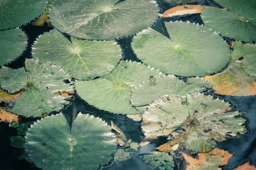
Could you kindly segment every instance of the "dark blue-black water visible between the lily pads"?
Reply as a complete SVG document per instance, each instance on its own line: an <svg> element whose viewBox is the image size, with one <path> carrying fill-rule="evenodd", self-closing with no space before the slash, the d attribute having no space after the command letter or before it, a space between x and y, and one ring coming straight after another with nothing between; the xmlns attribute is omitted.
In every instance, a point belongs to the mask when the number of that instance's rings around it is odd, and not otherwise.
<svg viewBox="0 0 256 170"><path fill-rule="evenodd" d="M201 3L194 3L194 4L202 4L202 5L210 5L210 6L218 6L211 1L203 1ZM162 6L162 12L166 11L167 9L173 7L174 5L165 5ZM161 32L162 34L168 37L166 34L166 28L163 26L163 21L170 22L182 20L190 22L195 22L199 24L203 24L201 20L200 14L189 14L182 17L172 17L171 19L161 19L158 20L157 23L152 26L155 30ZM23 26L23 30L29 37L28 46L23 54L20 56L19 59L9 64L9 67L12 68L20 68L24 66L24 62L26 58L31 58L31 45L35 41L38 35L43 34L46 31L49 31L52 28L48 28L47 25L40 27L40 26L32 26L28 24L27 26ZM225 38L228 43L231 42L232 39ZM132 37L123 38L117 40L118 44L122 48L122 59L131 59L132 61L140 60L136 57L134 52L131 49L131 41ZM229 164L227 166L222 167L224 170L232 170L238 165L241 165L247 161L250 163L256 164L256 96L241 96L241 97L234 97L234 96L223 96L223 95L216 95L212 92L207 94L220 96L222 99L225 99L226 102L230 102L233 106L235 106L234 110L241 110L246 112L247 114L244 116L248 119L249 123L249 132L244 134L238 138L231 137L226 141L217 142L217 147L219 149L224 149L233 153L233 157L230 159ZM1 103L0 105L4 105ZM150 153L151 151L155 150L155 147L160 146L167 142L166 137L161 137L160 139L144 139L143 134L141 133L140 129L140 122L134 122L133 120L127 118L123 115L113 115L111 113L100 111L93 106L88 105L85 101L79 98L79 96L74 96L72 102L69 106L66 106L62 111L67 119L70 119L72 116L73 106L76 107L77 112L81 112L84 114L92 114L97 117L101 117L106 122L110 123L111 120L113 123L118 126L126 135L127 139L131 139L133 142L140 143L141 141L151 141L150 144L140 147L139 151L132 153L131 158L126 159L124 161L111 161L108 165L104 167L100 167L104 170L156 170L157 168L151 168L139 158L138 155ZM33 121L35 118L25 118L22 117L21 120L23 122ZM22 155L23 149L12 147L10 144L10 137L16 136L17 131L13 127L9 127L9 124L1 122L0 123L0 170L15 170L15 169L25 169L25 170L40 170L39 168L35 167L35 165L31 164L26 160L18 159L18 156ZM176 167L176 169L178 169Z"/></svg>

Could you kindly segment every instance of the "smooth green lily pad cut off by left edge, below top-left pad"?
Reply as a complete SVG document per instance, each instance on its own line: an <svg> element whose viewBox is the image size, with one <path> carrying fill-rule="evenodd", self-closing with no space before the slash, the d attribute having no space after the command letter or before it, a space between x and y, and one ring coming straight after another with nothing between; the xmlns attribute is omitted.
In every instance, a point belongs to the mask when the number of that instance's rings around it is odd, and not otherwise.
<svg viewBox="0 0 256 170"><path fill-rule="evenodd" d="M0 18L3 18L2 15ZM1 25L0 21L0 27ZM21 29L9 29L0 31L0 37L0 65L4 65L22 54L27 45L27 36Z"/></svg>

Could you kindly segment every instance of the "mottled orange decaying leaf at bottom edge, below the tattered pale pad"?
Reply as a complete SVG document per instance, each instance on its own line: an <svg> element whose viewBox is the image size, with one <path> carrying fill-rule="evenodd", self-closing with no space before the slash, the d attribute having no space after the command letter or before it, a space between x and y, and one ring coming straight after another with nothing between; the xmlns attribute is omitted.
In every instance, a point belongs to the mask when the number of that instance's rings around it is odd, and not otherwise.
<svg viewBox="0 0 256 170"><path fill-rule="evenodd" d="M208 153L198 153L198 159L188 156L186 153L181 153L185 161L188 163L186 170L196 170L198 168L210 168L223 166L228 163L233 154L224 150L214 149Z"/></svg>

